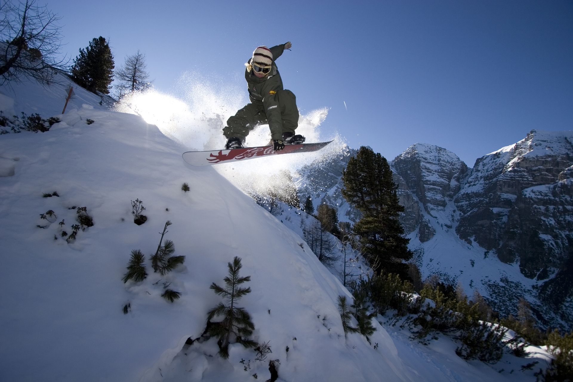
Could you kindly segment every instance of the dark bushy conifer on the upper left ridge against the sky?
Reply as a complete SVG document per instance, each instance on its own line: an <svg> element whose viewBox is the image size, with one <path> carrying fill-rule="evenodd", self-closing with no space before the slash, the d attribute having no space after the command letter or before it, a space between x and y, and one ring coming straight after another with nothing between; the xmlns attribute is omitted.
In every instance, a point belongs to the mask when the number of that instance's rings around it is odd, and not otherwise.
<svg viewBox="0 0 573 382"><path fill-rule="evenodd" d="M113 81L113 55L105 38L93 38L89 46L80 49L72 66L72 78L90 92L109 93Z"/></svg>

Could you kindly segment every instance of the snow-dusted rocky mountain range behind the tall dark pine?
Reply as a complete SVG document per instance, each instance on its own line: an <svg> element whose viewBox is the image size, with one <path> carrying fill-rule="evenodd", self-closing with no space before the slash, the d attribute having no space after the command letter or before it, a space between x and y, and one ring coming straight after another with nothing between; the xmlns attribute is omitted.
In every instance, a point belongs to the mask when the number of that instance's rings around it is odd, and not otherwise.
<svg viewBox="0 0 573 382"><path fill-rule="evenodd" d="M423 276L477 289L502 314L515 315L525 297L541 325L570 330L572 141L571 131L532 131L471 169L435 145L417 143L397 156L391 167L405 206L401 220ZM340 168L350 156L305 173L321 185L306 192L355 222L358 211L340 193Z"/></svg>

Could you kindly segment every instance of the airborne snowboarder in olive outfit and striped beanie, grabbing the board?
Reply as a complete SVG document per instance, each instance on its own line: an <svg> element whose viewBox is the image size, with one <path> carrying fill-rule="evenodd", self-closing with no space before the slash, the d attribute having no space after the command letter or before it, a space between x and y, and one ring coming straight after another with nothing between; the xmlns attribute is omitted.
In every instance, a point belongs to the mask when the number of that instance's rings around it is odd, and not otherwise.
<svg viewBox="0 0 573 382"><path fill-rule="evenodd" d="M299 125L295 94L282 88L281 75L274 63L291 46L291 42L272 48L259 46L246 62L245 79L251 103L227 120L227 126L223 128L226 149L242 148L249 132L257 125L267 123L274 151L284 149L285 144L304 142L302 135L295 135Z"/></svg>

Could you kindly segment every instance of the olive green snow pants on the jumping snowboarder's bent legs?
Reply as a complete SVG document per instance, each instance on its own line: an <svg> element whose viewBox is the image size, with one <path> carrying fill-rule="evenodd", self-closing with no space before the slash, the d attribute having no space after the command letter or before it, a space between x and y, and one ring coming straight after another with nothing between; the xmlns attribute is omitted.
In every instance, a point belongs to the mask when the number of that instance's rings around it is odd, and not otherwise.
<svg viewBox="0 0 573 382"><path fill-rule="evenodd" d="M278 133L281 136L282 133L286 132L294 133L299 125L299 109L296 107L295 94L291 90L278 90L275 97L278 101L281 120L270 118L271 123L269 123L262 103L247 104L236 115L227 120L227 127L223 128L223 135L227 138L237 137L245 141L245 137L257 125L268 123L271 132L273 129L280 129ZM272 123L273 121L275 123Z"/></svg>

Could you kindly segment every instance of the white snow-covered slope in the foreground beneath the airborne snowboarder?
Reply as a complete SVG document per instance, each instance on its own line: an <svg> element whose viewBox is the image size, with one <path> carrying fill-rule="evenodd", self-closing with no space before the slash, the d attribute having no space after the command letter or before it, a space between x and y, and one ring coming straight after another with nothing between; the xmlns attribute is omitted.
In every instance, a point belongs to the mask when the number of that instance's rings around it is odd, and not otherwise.
<svg viewBox="0 0 573 382"><path fill-rule="evenodd" d="M1 105L28 114L35 105L33 112L55 116L65 87L0 88ZM214 339L184 346L201 335L207 310L221 301L209 285L223 282L234 256L242 258L241 275L251 277L252 293L241 305L256 325L252 339L270 341L280 380L521 381L533 376L520 364L548 359L541 349L529 359L504 359L516 369L509 373L507 364L461 360L447 339L423 346L376 322L372 344L359 334L345 337L336 298L350 294L301 239L299 215L277 219L229 182L264 172L265 160L188 166L180 153L190 146L181 139L100 107L99 97L81 89L76 94L49 132L0 136L2 166L13 169L0 177L0 380L248 381L255 373L268 379L268 360L255 361L240 345L231 346L228 360L219 359ZM273 164L284 170L299 160ZM180 189L183 182L190 192ZM59 196L42 198L53 191ZM142 226L132 222L135 199L146 207ZM87 207L94 225L67 243L61 231L70 231L74 206ZM40 219L49 210L56 218ZM154 253L167 220L166 239L185 264L160 276L147 262L146 280L121 282L130 251ZM165 282L182 292L180 300L160 297Z"/></svg>

